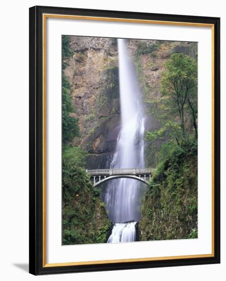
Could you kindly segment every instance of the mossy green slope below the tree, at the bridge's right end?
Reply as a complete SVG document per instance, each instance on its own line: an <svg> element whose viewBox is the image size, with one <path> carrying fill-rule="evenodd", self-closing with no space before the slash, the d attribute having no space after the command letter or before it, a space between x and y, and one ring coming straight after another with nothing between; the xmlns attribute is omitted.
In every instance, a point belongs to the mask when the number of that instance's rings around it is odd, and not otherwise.
<svg viewBox="0 0 226 281"><path fill-rule="evenodd" d="M142 241L197 238L197 143L168 149L142 205Z"/></svg>

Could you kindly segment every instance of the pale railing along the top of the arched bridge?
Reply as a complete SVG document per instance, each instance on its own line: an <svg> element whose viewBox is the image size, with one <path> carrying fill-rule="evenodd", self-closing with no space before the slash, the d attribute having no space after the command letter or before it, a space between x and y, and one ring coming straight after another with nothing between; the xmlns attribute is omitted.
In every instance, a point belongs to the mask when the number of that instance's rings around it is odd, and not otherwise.
<svg viewBox="0 0 226 281"><path fill-rule="evenodd" d="M91 176L113 176L113 175L149 175L155 171L154 168L124 168L124 169L96 169L86 170Z"/></svg>

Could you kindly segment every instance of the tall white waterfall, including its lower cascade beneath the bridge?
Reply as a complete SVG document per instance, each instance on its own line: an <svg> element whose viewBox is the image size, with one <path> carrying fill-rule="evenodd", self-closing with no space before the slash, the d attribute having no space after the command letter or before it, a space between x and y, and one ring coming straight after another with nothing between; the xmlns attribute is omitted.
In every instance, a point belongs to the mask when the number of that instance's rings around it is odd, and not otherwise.
<svg viewBox="0 0 226 281"><path fill-rule="evenodd" d="M110 168L143 168L145 115L137 75L125 39L118 39L118 53L121 131ZM109 219L115 222L109 243L135 240L135 223L141 216L139 191L142 185L140 181L128 178L111 180L107 184L105 203Z"/></svg>

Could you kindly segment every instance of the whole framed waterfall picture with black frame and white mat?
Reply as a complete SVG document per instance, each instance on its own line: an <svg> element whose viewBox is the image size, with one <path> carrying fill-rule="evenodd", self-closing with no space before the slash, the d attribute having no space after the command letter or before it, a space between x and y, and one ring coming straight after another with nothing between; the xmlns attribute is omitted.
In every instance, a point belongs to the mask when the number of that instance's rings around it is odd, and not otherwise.
<svg viewBox="0 0 226 281"><path fill-rule="evenodd" d="M30 273L220 262L219 34L30 8Z"/></svg>

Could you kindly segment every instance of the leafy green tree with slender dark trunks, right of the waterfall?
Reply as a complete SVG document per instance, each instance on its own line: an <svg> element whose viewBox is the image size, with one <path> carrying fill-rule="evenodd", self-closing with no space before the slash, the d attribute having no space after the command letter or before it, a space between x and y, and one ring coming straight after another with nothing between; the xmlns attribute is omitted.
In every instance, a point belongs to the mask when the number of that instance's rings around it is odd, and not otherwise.
<svg viewBox="0 0 226 281"><path fill-rule="evenodd" d="M190 111L197 137L197 63L182 53L172 54L166 62L161 93L167 98L168 109L173 116L179 115L183 138L185 132L185 112Z"/></svg>

